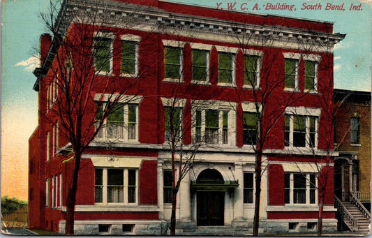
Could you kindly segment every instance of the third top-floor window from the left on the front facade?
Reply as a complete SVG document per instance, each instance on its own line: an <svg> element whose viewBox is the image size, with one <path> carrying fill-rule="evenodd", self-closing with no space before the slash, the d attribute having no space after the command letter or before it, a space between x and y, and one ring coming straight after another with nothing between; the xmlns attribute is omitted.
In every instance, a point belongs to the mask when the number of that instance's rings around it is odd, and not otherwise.
<svg viewBox="0 0 372 238"><path fill-rule="evenodd" d="M181 79L181 48L164 47L164 77L171 80Z"/></svg>

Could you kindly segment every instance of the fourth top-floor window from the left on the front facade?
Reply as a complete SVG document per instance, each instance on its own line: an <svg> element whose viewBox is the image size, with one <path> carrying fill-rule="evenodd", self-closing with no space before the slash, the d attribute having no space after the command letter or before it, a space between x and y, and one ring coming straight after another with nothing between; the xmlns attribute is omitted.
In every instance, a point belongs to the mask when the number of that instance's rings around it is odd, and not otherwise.
<svg viewBox="0 0 372 238"><path fill-rule="evenodd" d="M207 82L209 52L207 50L192 50L193 80Z"/></svg>

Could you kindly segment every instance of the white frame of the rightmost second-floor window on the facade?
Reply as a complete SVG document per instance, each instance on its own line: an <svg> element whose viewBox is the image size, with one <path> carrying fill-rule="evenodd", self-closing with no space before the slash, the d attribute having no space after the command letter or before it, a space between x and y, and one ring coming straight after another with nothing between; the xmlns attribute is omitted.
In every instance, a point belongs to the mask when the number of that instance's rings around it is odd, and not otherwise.
<svg viewBox="0 0 372 238"><path fill-rule="evenodd" d="M309 149L316 150L318 149L318 137L319 137L319 121L320 121L320 108L310 108L310 107L287 107L285 109L284 117L290 116L290 138L289 138L289 146L285 146L285 148L289 149ZM294 133L294 122L293 116L304 116L305 119L305 127L306 127L306 137L305 137L305 147L295 147L293 145L293 133ZM315 138L314 138L314 146L310 147L308 142L310 141L310 121L308 120L309 117L316 117L315 118ZM285 128L285 126L283 126Z"/></svg>

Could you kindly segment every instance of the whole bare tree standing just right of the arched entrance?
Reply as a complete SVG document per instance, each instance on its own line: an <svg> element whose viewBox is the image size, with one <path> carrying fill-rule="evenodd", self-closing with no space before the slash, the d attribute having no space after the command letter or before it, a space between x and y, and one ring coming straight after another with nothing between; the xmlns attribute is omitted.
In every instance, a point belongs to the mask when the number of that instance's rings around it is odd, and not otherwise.
<svg viewBox="0 0 372 238"><path fill-rule="evenodd" d="M245 24L245 31L237 27L235 38L240 48L237 58L242 62L237 64L237 78L243 79L242 82L237 82L237 96L239 101L246 102L245 105L241 104L237 114L244 128L243 144L251 145L255 153L253 236L258 236L261 180L266 171L266 168L262 167L265 149L275 143L275 135L278 134L281 123L287 122L283 121L283 115L289 107L308 101L318 91L323 94L320 105L332 102L329 89L333 88L333 59L321 59L318 50L332 52L336 41L330 43L321 40L320 32L305 30L291 39L297 47L285 52L276 47L284 35L281 27L258 29L251 24ZM302 38L301 34L306 34L308 38ZM292 34L290 35L292 37ZM333 57L333 54L322 55ZM283 57L284 62L278 60ZM332 65L328 65L329 62ZM304 86L299 84L300 68L305 71ZM319 77L320 71L326 73ZM286 135L285 133L285 146L290 146L292 142L288 141L289 137Z"/></svg>

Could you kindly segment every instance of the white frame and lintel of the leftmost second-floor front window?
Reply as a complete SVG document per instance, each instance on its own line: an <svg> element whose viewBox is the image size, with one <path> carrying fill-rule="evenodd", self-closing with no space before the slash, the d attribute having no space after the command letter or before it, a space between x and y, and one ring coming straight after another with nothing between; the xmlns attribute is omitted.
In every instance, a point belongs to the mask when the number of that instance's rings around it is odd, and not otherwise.
<svg viewBox="0 0 372 238"><path fill-rule="evenodd" d="M140 133L140 103L143 99L143 96L134 96L134 95L119 95L119 94L96 94L94 95L94 101L101 101L102 107L105 108L106 102L110 100L115 100L117 97L119 101L118 104L122 103L124 106L124 126L123 126L123 138L107 138L107 132L105 125L107 124L107 117L105 121L103 121L103 126L101 131L98 132L95 140L96 141L119 141L119 142L138 142L139 141L139 133ZM135 124L135 139L128 139L128 105L135 105L136 106L136 124ZM102 137L98 137L98 135L102 135Z"/></svg>

